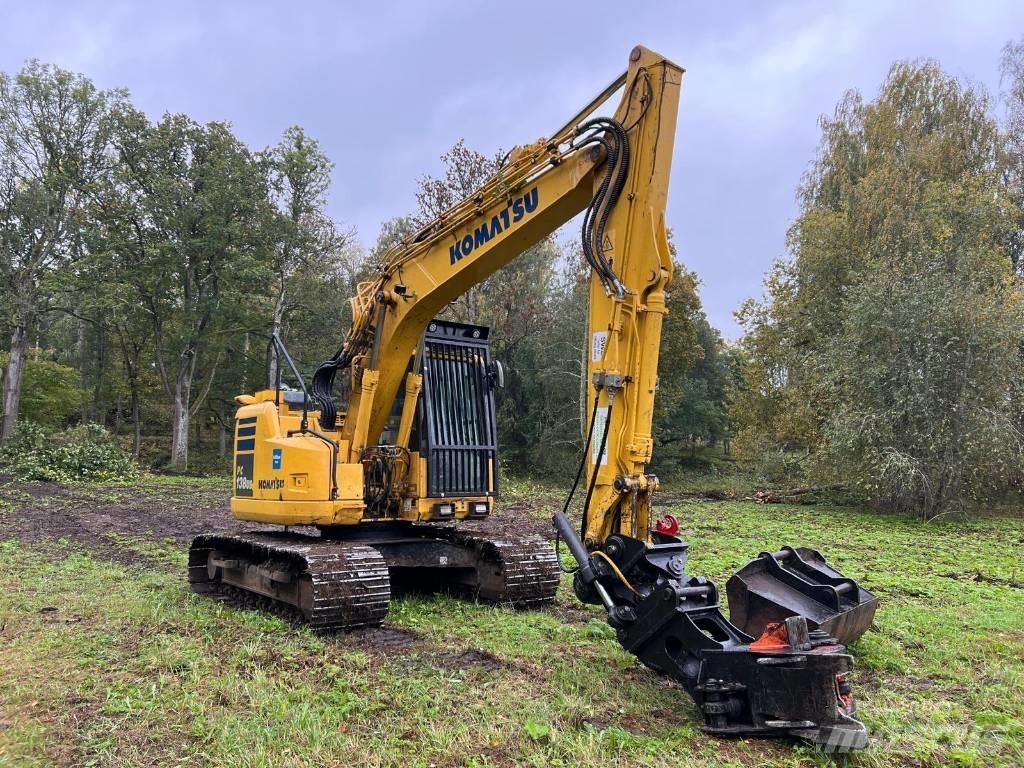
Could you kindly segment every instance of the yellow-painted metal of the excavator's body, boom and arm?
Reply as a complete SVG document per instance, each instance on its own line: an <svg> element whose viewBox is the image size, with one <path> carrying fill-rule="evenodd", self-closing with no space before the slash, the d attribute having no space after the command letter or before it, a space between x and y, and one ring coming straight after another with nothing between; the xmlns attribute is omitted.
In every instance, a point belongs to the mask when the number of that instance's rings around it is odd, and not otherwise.
<svg viewBox="0 0 1024 768"><path fill-rule="evenodd" d="M631 536L646 537L650 525L650 495L656 480L645 474L645 467L653 447L651 420L665 291L673 271L665 210L682 74L663 56L637 47L622 79L623 97L614 113L629 131L631 165L605 226L604 250L627 291L622 297L608 295L596 275L592 278L589 344L603 351L588 355L588 410L597 393L594 374L622 377L623 383L613 392L600 392L600 406L607 408L611 401L612 410L607 460L596 466L589 460L587 467L588 474L597 472L586 537L590 546L614 532L615 520L621 521L617 530ZM574 126L598 105L592 102L551 139L516 147L494 178L416 238L392 249L379 276L359 286L346 338L346 348L356 360L348 413L336 432L321 430L315 414L310 418L310 428L338 446L334 498L332 449L311 435L289 436L299 429L300 415L284 403L279 413L272 391L240 398L239 419L257 417L253 454L257 487L252 498L237 495L232 500L237 517L285 524L359 522L360 457L364 449L379 441L403 380L406 401L396 443L412 447L409 439L422 378L408 374L409 362L429 322L583 211L594 197L604 153L575 150L571 140ZM515 207L515 201L524 200L535 202L532 210ZM470 246L464 248L465 244ZM596 434L595 440L600 436ZM280 470L271 468L274 449L281 451ZM239 456L237 452L237 464ZM493 483L493 467L490 475ZM394 484L393 493L400 497L395 499L394 517L430 519L439 503L454 504L457 517L470 514L473 504L490 507L488 498L427 499L426 476L426 461L418 453L410 454L408 473ZM622 490L613 485L616 477ZM261 481L269 485L261 487Z"/></svg>

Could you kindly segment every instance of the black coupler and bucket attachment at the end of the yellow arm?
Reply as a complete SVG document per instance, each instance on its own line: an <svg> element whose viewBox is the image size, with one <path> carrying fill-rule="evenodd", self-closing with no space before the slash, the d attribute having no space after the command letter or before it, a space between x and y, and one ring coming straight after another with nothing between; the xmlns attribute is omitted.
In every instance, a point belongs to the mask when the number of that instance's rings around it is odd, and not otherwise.
<svg viewBox="0 0 1024 768"><path fill-rule="evenodd" d="M828 629L841 629L847 641L859 637L870 625L877 599L828 568L816 552L783 550L792 555L781 558L785 566L775 559L785 572L781 577L760 558L741 569L737 577L746 571L746 581L730 590L730 596L735 592L738 599L750 598L738 609L730 601L730 614L743 616L740 627L722 614L714 583L686 573L685 542L656 531L653 544L615 535L589 552L564 514L556 513L553 521L579 563L573 581L578 597L603 604L623 647L685 686L707 731L791 736L837 752L867 745L850 688L853 657ZM760 564L752 568L755 563ZM803 570L801 563L807 565ZM757 580L751 579L755 570ZM771 578L801 599L782 589L769 590ZM840 588L831 617L843 621L829 623L820 606L831 603L824 600L812 616L802 613L809 594L824 596L811 589L822 585L834 592ZM849 605L854 599L859 604ZM762 620L768 621L756 634L749 632Z"/></svg>

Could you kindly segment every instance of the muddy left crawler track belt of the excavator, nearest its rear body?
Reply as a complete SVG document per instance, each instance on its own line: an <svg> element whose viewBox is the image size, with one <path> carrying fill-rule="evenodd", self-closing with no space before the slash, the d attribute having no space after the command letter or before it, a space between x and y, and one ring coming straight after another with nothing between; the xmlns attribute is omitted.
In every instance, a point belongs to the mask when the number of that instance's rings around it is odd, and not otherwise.
<svg viewBox="0 0 1024 768"><path fill-rule="evenodd" d="M312 604L292 606L280 600L211 581L210 550L231 553L253 563L287 561L311 584ZM301 612L321 631L379 627L387 616L391 585L384 558L373 547L324 542L282 534L207 535L197 537L188 552L188 582L200 594L214 593L246 607L271 607L272 612Z"/></svg>

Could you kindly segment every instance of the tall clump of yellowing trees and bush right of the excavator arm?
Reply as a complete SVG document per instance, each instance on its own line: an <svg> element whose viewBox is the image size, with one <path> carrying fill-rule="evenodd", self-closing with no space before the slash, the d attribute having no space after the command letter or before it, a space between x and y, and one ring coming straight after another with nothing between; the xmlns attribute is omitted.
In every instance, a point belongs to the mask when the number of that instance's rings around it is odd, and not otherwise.
<svg viewBox="0 0 1024 768"><path fill-rule="evenodd" d="M987 96L899 62L874 101L848 93L821 127L792 258L740 314L741 436L807 451L891 508L985 498L1020 476L1024 348Z"/></svg>

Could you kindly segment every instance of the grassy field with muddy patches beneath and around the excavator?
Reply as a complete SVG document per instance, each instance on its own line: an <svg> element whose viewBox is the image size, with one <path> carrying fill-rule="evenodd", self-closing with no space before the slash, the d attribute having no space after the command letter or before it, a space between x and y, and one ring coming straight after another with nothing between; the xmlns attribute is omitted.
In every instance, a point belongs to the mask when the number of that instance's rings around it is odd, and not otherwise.
<svg viewBox="0 0 1024 768"><path fill-rule="evenodd" d="M871 746L837 758L705 735L567 583L542 612L410 596L328 636L196 597L185 548L234 527L225 487L0 480L0 765L1024 765L1019 513L666 499L694 573L804 544L883 598L853 647ZM512 483L488 524L546 535L557 500Z"/></svg>

